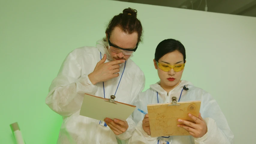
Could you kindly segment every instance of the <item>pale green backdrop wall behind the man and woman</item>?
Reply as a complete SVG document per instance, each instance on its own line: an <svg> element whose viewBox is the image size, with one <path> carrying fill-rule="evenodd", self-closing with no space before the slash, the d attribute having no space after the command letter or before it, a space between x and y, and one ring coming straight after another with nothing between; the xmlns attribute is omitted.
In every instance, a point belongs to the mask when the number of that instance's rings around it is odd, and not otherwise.
<svg viewBox="0 0 256 144"><path fill-rule="evenodd" d="M155 47L178 39L187 51L183 79L218 101L237 144L255 141L250 111L256 99L246 89L255 85L256 18L109 0L9 0L0 2L0 143L14 143L13 122L27 144L56 143L62 118L45 104L51 81L69 52L95 46L110 18L127 7L138 10L144 27L144 43L132 59L145 73L146 88L158 81Z"/></svg>

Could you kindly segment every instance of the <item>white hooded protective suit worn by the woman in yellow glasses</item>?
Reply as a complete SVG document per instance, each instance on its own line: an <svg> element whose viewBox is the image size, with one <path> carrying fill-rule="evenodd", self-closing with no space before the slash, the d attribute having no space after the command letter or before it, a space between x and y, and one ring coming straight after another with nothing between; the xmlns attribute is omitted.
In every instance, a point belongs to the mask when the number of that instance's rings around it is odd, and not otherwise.
<svg viewBox="0 0 256 144"><path fill-rule="evenodd" d="M183 90L183 86L189 88ZM158 98L157 98L158 92ZM182 94L181 94L182 93ZM181 98L180 98L181 95ZM201 138L194 138L192 136L170 136L164 137L151 137L142 128L142 120L144 114L136 110L133 113L133 120L137 124L134 134L129 140L131 144L161 144L168 142L170 144L233 144L234 135L229 128L227 120L224 114L221 112L217 102L212 96L201 88L194 87L191 82L182 80L177 87L167 92L159 85L159 82L150 85L150 88L140 93L134 105L137 108L147 112L147 104L157 103L170 103L171 98L177 97L177 101L180 98L182 101L195 101L201 100L200 113L202 118L207 124L207 133ZM159 101L159 102L158 102Z"/></svg>

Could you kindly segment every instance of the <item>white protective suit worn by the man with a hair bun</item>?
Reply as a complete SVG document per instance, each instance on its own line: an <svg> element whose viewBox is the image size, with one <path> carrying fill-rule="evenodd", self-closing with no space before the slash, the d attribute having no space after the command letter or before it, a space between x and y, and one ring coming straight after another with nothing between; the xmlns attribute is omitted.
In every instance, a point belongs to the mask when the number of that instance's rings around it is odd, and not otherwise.
<svg viewBox="0 0 256 144"><path fill-rule="evenodd" d="M105 62L111 61L106 46L107 42L100 40L96 47L84 46L73 50L65 58L57 77L52 81L46 104L63 117L57 143L114 144L129 139L135 130L136 125L131 116L126 120L129 125L127 131L116 136L108 126L99 125L98 120L79 115L84 93L104 98L103 82L93 85L88 74L93 72L104 54L107 55ZM119 77L104 82L105 96L110 98L116 92L116 101L132 104L144 86L144 73L134 61L128 59L126 65L120 64Z"/></svg>

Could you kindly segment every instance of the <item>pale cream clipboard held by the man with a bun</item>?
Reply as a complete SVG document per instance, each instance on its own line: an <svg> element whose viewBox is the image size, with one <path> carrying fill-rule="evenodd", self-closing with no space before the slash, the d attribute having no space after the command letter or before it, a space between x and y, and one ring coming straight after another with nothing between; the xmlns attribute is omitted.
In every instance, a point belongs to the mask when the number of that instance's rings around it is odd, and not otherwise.
<svg viewBox="0 0 256 144"><path fill-rule="evenodd" d="M125 121L135 110L136 106L115 101L115 96L101 98L85 94L80 110L80 116L104 121L105 118Z"/></svg>

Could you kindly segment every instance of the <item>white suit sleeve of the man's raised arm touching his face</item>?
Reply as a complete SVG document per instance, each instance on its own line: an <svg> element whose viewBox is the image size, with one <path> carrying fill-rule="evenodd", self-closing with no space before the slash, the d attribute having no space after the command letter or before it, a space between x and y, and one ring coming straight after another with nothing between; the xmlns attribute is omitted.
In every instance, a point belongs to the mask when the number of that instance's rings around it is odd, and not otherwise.
<svg viewBox="0 0 256 144"><path fill-rule="evenodd" d="M97 89L88 75L81 76L81 66L71 52L52 81L45 102L59 115L70 116L80 110L84 93L94 94Z"/></svg>

